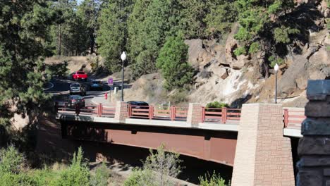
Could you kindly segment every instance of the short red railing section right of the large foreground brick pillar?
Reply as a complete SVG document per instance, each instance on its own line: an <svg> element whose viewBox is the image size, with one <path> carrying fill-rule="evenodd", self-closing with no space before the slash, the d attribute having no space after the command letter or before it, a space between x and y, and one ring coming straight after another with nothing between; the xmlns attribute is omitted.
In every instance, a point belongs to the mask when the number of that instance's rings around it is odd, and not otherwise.
<svg viewBox="0 0 330 186"><path fill-rule="evenodd" d="M284 128L300 128L305 118L305 109L283 109Z"/></svg>

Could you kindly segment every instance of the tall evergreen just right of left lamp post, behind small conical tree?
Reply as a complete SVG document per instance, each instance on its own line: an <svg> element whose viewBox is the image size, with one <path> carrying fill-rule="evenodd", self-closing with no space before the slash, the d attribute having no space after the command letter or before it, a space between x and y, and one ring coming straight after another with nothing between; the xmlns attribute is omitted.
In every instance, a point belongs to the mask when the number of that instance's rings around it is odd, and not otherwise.
<svg viewBox="0 0 330 186"><path fill-rule="evenodd" d="M147 5L146 7L142 7ZM159 49L168 35L176 31L178 17L176 3L173 1L138 0L133 8L133 20L130 23L138 24L138 30L133 36L130 33L130 54L133 58L133 77L147 73L154 73ZM145 9L145 13L138 13ZM130 29L132 30L132 29ZM136 39L134 41L134 39ZM135 46L134 43L138 45Z"/></svg>

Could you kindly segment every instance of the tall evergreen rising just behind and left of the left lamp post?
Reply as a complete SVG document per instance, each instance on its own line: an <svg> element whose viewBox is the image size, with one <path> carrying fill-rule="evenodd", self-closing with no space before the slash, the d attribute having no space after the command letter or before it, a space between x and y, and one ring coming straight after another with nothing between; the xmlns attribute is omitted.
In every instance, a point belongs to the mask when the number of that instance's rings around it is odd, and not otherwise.
<svg viewBox="0 0 330 186"><path fill-rule="evenodd" d="M121 52L126 51L127 19L132 0L110 0L103 4L99 17L97 44L99 54L105 58L106 68L115 72L121 67Z"/></svg>

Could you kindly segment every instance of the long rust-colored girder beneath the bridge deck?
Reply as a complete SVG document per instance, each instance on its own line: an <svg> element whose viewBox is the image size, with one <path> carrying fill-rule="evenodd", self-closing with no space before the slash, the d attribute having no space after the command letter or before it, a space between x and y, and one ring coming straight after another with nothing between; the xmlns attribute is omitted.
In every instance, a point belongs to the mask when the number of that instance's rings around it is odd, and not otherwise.
<svg viewBox="0 0 330 186"><path fill-rule="evenodd" d="M63 137L169 151L233 166L237 132L61 120ZM130 153L130 152L128 152ZM134 152L132 152L134 154Z"/></svg>

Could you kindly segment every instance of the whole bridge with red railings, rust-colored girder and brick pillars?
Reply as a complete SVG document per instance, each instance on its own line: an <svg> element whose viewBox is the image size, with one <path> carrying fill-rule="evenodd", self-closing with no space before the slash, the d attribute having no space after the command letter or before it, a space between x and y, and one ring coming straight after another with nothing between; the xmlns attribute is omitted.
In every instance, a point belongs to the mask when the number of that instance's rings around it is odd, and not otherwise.
<svg viewBox="0 0 330 186"><path fill-rule="evenodd" d="M245 104L242 109L189 104L188 108L159 109L118 101L113 106L87 107L79 116L74 112L59 108L63 137L152 149L165 144L169 151L233 166L236 179L236 173L249 165L246 161L254 166L267 162L277 168L279 178L294 185L293 156L304 109L279 104Z"/></svg>

